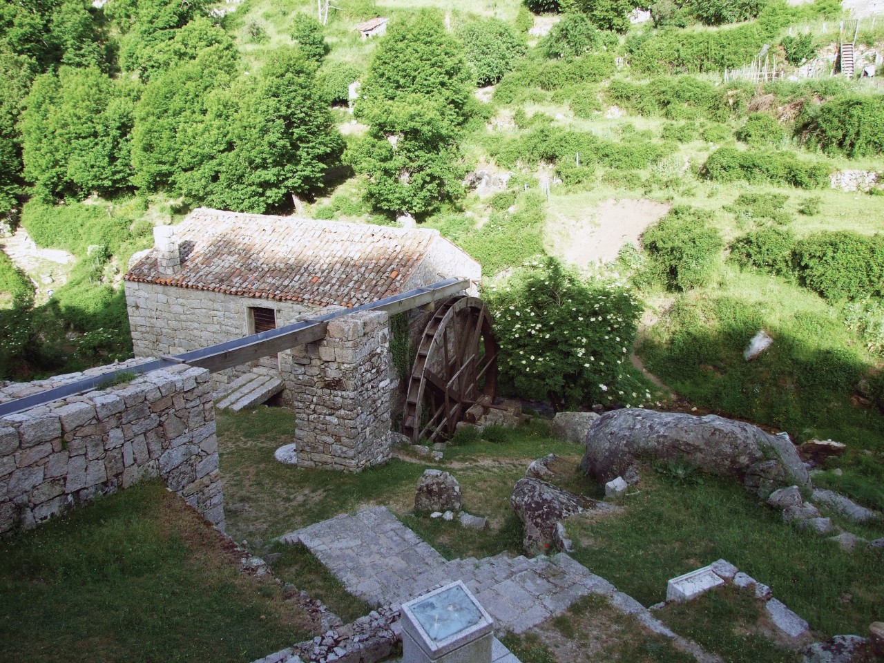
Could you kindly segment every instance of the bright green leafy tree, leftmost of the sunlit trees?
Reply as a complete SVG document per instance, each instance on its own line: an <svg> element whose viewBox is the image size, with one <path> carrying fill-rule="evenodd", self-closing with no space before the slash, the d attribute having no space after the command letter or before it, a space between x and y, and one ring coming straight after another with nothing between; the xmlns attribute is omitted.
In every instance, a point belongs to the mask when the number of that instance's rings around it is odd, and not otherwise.
<svg viewBox="0 0 884 663"><path fill-rule="evenodd" d="M136 94L95 67L35 80L21 131L24 174L36 193L82 198L128 187Z"/></svg>

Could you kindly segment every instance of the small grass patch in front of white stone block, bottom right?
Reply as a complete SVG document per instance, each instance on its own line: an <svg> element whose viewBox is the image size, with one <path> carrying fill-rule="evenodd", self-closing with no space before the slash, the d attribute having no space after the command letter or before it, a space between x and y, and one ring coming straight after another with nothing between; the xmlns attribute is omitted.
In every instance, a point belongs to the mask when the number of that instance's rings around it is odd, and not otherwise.
<svg viewBox="0 0 884 663"><path fill-rule="evenodd" d="M758 632L766 619L763 604L751 588L733 586L706 592L688 603L674 603L657 617L681 636L728 663L798 663L801 655Z"/></svg>

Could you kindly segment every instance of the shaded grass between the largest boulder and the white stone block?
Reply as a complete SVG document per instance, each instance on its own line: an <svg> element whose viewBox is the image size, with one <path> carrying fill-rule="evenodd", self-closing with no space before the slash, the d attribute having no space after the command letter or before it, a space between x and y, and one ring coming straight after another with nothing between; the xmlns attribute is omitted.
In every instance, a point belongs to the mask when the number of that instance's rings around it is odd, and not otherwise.
<svg viewBox="0 0 884 663"><path fill-rule="evenodd" d="M880 552L842 552L792 528L731 479L705 476L703 484L676 488L650 470L642 477L623 514L568 522L568 531L576 560L645 606L666 597L669 578L723 558L769 585L824 636L863 633L884 610ZM850 602L841 600L845 592Z"/></svg>

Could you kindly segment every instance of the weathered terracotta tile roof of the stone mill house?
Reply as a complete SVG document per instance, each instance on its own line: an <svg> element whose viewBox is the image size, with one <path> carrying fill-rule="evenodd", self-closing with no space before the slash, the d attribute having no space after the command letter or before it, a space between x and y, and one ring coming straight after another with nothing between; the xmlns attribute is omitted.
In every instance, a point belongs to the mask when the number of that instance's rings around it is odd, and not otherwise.
<svg viewBox="0 0 884 663"><path fill-rule="evenodd" d="M200 208L175 226L181 271L160 276L156 248L127 281L279 301L355 306L400 293L435 230Z"/></svg>

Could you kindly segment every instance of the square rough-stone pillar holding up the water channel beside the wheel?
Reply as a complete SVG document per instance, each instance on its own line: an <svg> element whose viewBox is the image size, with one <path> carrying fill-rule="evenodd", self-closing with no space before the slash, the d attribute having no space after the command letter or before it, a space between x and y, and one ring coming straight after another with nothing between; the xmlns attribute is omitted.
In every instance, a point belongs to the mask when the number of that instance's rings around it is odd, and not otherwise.
<svg viewBox="0 0 884 663"><path fill-rule="evenodd" d="M292 350L298 465L359 472L390 458L389 316L368 311L328 324Z"/></svg>

